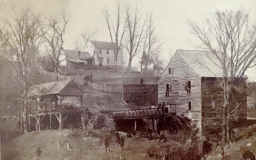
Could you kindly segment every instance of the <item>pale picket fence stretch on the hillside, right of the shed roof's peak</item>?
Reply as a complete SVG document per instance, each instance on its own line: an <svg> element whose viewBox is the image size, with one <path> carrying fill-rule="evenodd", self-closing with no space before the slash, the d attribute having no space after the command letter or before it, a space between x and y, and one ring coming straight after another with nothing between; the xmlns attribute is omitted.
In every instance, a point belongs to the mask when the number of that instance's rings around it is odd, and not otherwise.
<svg viewBox="0 0 256 160"><path fill-rule="evenodd" d="M111 86L111 85L104 86L103 84L91 83L90 81L88 81L88 86L102 92L121 93L122 91L121 86L120 87Z"/></svg>

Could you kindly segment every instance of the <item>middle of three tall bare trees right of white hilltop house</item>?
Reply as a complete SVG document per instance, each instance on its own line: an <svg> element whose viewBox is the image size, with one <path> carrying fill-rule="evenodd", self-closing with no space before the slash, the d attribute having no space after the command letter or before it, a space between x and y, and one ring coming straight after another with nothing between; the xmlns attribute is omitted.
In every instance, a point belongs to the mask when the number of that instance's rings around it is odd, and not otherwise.
<svg viewBox="0 0 256 160"><path fill-rule="evenodd" d="M140 51L140 44L143 41L143 32L145 28L145 22L147 20L147 15L145 16L145 19L140 25L140 20L142 17L142 14L140 14L140 9L136 5L136 7L131 11L130 6L126 6L125 12L126 12L126 21L127 21L127 30L125 34L125 44L124 47L129 53L129 62L127 70L131 69L132 65L132 58L136 56Z"/></svg>

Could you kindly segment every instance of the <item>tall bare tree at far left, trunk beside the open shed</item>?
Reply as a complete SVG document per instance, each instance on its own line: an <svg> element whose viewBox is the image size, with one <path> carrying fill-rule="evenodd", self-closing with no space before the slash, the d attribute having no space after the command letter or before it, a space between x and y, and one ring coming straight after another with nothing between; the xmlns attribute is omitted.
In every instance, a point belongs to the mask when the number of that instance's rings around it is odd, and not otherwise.
<svg viewBox="0 0 256 160"><path fill-rule="evenodd" d="M22 83L20 99L22 99L23 111L26 116L25 129L28 131L27 93L29 76L37 69L35 58L42 43L40 32L41 17L29 8L18 12L15 9L12 9L12 11L13 19L7 16L4 18L4 23L10 35L7 36L2 30L0 30L0 33L17 61L17 65L13 64L13 66L17 68L15 71L18 74L19 81Z"/></svg>

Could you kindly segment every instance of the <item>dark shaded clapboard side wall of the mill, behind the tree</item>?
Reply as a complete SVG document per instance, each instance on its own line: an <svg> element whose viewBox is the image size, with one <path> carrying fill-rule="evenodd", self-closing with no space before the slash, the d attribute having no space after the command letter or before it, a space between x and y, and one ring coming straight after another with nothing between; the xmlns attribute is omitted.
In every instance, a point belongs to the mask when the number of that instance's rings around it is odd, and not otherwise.
<svg viewBox="0 0 256 160"><path fill-rule="evenodd" d="M202 84L202 132L209 133L211 130L220 130L222 124L222 105L224 96L222 94L223 89L220 86L220 82L216 78L201 79ZM235 82L235 86L239 91L233 93L233 98L230 100L230 110L233 110L237 103L240 103L246 95L246 84L242 79L238 79ZM245 119L247 116L247 100L242 101L239 108L237 108L235 117L232 116L233 121L239 123L239 121Z"/></svg>

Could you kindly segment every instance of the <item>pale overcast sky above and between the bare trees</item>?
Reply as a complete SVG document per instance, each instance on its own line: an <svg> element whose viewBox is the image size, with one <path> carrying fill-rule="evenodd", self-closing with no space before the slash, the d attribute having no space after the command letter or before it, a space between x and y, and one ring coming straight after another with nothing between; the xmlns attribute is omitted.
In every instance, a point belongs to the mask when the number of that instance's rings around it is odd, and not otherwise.
<svg viewBox="0 0 256 160"><path fill-rule="evenodd" d="M102 10L107 6L115 10L116 0L0 0L0 14L9 14L11 6L28 5L44 15L61 16L63 12L70 17L68 34L65 38L65 49L74 49L74 42L79 38L84 26L98 30L95 39L110 41L108 28L102 16ZM250 21L256 22L256 0L123 0L121 3L138 4L143 14L153 12L153 19L159 32L159 38L164 42L162 55L169 61L177 49L199 50L196 45L200 41L190 33L188 21L200 25L216 10L243 9L250 13ZM196 44L196 45L195 45ZM138 65L134 58L132 66ZM256 82L256 71L251 69L249 77ZM249 78L249 79L250 79Z"/></svg>

